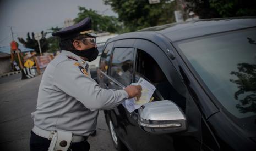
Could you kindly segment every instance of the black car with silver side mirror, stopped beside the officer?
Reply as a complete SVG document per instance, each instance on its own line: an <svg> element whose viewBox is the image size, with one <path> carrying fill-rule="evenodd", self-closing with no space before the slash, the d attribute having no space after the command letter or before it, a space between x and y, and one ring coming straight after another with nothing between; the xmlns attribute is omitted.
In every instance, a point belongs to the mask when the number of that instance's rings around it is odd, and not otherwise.
<svg viewBox="0 0 256 151"><path fill-rule="evenodd" d="M104 111L118 150L256 150L256 18L167 24L107 41L98 82L154 100Z"/></svg>

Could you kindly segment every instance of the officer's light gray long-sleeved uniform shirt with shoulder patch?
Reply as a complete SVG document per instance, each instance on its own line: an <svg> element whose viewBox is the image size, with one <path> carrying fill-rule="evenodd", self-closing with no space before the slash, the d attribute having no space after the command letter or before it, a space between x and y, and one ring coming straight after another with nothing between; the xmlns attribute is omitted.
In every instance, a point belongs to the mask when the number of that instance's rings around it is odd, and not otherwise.
<svg viewBox="0 0 256 151"><path fill-rule="evenodd" d="M85 68L84 60L64 50L48 64L39 86L36 111L31 113L37 127L89 135L96 129L99 109L111 109L128 98L124 90L100 88Z"/></svg>

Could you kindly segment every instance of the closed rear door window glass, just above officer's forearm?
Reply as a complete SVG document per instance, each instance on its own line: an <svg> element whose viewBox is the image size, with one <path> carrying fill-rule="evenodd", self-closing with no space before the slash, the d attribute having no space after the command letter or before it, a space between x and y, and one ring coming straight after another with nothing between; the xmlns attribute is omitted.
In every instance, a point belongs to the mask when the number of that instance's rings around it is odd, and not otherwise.
<svg viewBox="0 0 256 151"><path fill-rule="evenodd" d="M134 48L115 48L113 51L110 75L124 86L132 83Z"/></svg>

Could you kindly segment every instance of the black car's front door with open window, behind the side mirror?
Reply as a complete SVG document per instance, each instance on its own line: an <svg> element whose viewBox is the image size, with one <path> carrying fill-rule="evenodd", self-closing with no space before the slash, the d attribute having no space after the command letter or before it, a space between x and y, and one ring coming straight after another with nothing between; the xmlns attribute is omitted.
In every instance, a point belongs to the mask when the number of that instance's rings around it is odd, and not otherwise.
<svg viewBox="0 0 256 151"><path fill-rule="evenodd" d="M137 111L127 113L130 124L126 125L126 131L130 148L132 150L200 150L201 113L171 61L156 44L148 40L137 39L134 47L137 48L134 82L140 77L145 78L156 87L153 94L154 101L171 100L186 115L193 112L194 117L188 119L190 126L186 132L152 135L140 129L137 123Z"/></svg>

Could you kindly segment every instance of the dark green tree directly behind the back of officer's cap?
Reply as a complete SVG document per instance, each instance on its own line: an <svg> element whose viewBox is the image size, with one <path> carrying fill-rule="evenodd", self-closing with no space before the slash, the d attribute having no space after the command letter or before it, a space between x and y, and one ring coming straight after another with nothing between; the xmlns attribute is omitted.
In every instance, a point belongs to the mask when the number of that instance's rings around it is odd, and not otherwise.
<svg viewBox="0 0 256 151"><path fill-rule="evenodd" d="M61 30L61 28L52 27L49 30L51 32L48 32L48 33L53 33L53 32ZM47 41L49 43L49 49L48 49L49 53L55 53L56 51L60 50L59 49L59 37L50 36L50 37L47 38Z"/></svg>

